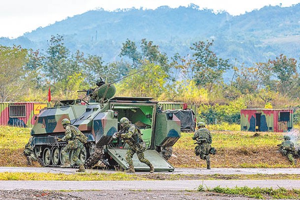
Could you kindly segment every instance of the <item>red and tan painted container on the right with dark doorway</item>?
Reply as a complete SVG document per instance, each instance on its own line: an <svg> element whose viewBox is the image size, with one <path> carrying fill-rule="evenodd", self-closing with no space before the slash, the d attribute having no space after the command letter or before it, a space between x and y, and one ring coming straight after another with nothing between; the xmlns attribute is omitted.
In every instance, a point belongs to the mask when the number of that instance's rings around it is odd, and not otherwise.
<svg viewBox="0 0 300 200"><path fill-rule="evenodd" d="M293 129L293 109L242 109L242 131L288 132Z"/></svg>

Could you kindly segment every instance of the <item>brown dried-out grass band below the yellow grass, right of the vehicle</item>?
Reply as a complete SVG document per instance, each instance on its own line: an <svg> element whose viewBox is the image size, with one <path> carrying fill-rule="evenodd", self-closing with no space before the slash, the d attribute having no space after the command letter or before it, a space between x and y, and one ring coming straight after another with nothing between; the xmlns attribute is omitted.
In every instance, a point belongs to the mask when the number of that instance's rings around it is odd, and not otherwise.
<svg viewBox="0 0 300 200"><path fill-rule="evenodd" d="M174 147L173 155L168 161L174 167L206 167L206 162L199 156L195 156L194 149ZM267 146L252 149L247 147L220 148L217 149L216 155L211 155L210 162L212 167L295 167L278 152L277 147Z"/></svg>

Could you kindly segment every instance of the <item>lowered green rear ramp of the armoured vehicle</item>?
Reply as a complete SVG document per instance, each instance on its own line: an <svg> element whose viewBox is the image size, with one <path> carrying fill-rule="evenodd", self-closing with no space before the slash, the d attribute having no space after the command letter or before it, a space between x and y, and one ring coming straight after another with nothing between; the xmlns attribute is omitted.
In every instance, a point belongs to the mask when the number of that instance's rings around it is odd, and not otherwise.
<svg viewBox="0 0 300 200"><path fill-rule="evenodd" d="M108 154L124 169L129 169L126 162L127 149L108 149ZM144 152L145 158L152 163L155 171L173 171L174 167L171 166L156 150L147 150ZM133 155L133 166L136 171L149 171L149 167L139 162L136 154Z"/></svg>

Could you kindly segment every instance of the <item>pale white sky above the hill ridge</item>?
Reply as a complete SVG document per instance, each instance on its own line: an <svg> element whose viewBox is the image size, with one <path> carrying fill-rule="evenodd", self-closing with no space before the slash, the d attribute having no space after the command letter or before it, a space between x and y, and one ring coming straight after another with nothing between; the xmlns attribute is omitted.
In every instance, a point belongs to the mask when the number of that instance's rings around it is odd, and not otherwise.
<svg viewBox="0 0 300 200"><path fill-rule="evenodd" d="M300 0L0 0L0 37L14 38L31 32L38 27L45 27L88 10L103 8L147 8L168 5L175 8L190 3L200 9L214 11L225 10L232 15L260 9L265 5L282 7L299 3Z"/></svg>

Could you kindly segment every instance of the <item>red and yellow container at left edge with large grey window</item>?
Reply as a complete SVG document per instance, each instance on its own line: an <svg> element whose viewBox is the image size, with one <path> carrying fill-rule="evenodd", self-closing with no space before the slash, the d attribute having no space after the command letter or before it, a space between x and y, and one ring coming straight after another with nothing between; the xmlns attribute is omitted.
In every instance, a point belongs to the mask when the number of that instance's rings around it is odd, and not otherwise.
<svg viewBox="0 0 300 200"><path fill-rule="evenodd" d="M32 128L39 110L50 107L44 102L0 102L0 125Z"/></svg>

